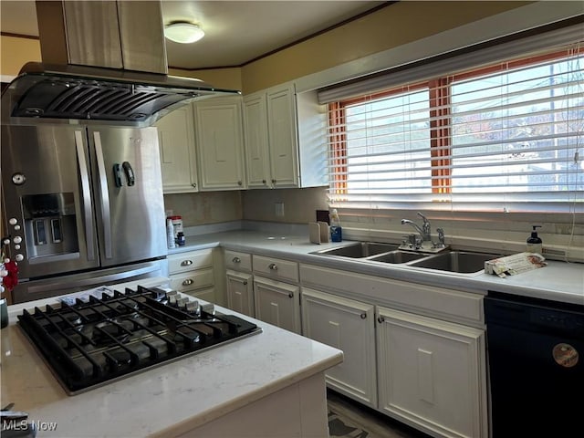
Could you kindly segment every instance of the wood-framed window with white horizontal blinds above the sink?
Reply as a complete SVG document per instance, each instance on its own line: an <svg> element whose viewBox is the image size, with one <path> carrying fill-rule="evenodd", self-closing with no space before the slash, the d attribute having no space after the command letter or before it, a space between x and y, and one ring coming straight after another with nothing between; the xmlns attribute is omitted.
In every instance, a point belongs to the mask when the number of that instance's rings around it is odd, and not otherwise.
<svg viewBox="0 0 584 438"><path fill-rule="evenodd" d="M554 212L584 203L579 45L328 108L333 206Z"/></svg>

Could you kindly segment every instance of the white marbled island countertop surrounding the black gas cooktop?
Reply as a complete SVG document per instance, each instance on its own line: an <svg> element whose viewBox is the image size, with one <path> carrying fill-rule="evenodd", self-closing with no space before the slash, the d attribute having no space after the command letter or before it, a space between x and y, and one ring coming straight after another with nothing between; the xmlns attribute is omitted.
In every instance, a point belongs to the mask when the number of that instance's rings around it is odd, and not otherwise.
<svg viewBox="0 0 584 438"><path fill-rule="evenodd" d="M57 422L56 431L39 437L174 436L342 361L339 349L241 316L262 333L68 396L16 326L16 315L35 305L41 301L9 307L10 325L1 330L1 401L28 412L30 422Z"/></svg>

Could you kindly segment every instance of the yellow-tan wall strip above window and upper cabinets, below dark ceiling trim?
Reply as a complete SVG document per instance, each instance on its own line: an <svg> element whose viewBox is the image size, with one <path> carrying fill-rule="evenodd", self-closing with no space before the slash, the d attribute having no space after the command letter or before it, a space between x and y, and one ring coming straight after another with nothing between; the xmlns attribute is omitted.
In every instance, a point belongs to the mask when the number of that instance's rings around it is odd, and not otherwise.
<svg viewBox="0 0 584 438"><path fill-rule="evenodd" d="M244 93L301 78L533 2L399 2L242 68ZM436 19L438 18L438 19Z"/></svg>

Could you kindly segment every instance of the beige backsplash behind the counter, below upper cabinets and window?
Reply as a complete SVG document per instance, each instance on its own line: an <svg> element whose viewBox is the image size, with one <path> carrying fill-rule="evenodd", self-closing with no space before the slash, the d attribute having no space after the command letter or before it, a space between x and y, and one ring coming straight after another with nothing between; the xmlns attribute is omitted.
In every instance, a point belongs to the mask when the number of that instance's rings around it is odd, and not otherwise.
<svg viewBox="0 0 584 438"><path fill-rule="evenodd" d="M328 210L324 187L167 194L164 203L167 210L183 216L185 227L231 223L245 228L254 222L306 225L315 220L316 210ZM279 207L283 216L276 214L276 203L283 204ZM400 242L403 235L412 232L401 225L401 218L419 220L412 212L350 213L341 213L343 235L348 240ZM574 218L569 214L423 213L432 223L433 234L436 227L442 227L446 243L459 248L522 252L531 225L537 224L543 225L538 233L547 258L584 261L584 224L579 219L572 224Z"/></svg>

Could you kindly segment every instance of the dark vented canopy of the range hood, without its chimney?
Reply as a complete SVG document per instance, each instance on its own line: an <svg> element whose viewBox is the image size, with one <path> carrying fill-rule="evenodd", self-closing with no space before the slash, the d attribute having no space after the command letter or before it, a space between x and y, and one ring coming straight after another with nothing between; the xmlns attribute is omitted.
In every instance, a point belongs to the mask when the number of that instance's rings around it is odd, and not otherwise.
<svg viewBox="0 0 584 438"><path fill-rule="evenodd" d="M35 118L149 126L177 104L237 93L193 78L30 62L2 96L3 123Z"/></svg>

